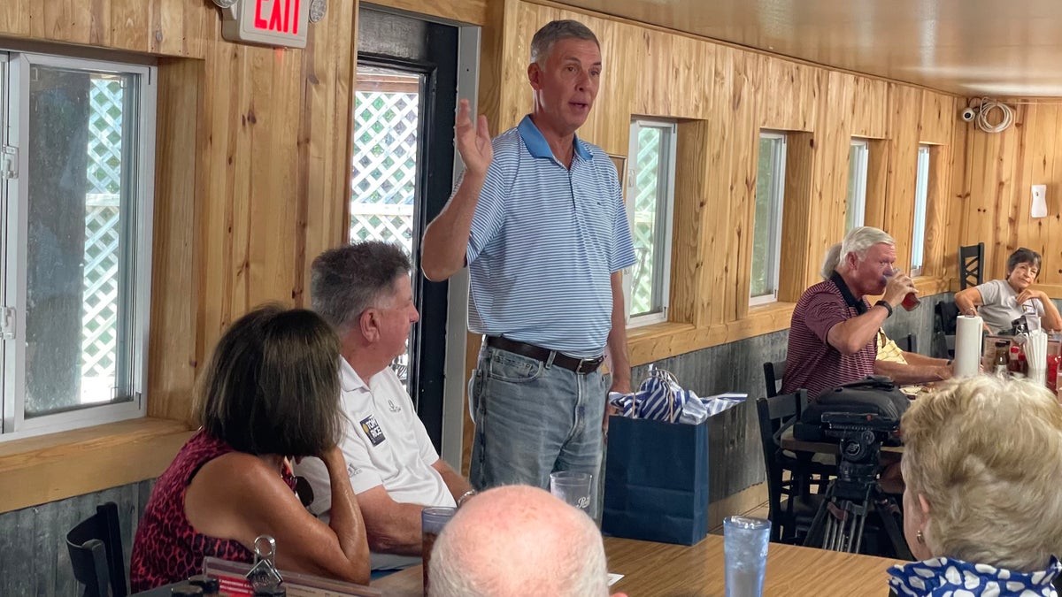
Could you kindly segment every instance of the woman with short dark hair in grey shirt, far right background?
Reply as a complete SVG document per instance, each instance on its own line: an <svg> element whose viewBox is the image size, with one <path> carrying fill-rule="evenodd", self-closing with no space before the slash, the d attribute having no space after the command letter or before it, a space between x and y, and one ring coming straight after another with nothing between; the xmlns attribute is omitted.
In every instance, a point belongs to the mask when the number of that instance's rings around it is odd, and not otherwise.
<svg viewBox="0 0 1062 597"><path fill-rule="evenodd" d="M1009 331L1013 321L1040 318L1044 329L1062 329L1062 315L1046 293L1029 288L1040 274L1040 254L1021 248L1007 258L1007 279L993 279L955 293L964 315L981 315L990 334ZM979 308L978 308L979 307Z"/></svg>

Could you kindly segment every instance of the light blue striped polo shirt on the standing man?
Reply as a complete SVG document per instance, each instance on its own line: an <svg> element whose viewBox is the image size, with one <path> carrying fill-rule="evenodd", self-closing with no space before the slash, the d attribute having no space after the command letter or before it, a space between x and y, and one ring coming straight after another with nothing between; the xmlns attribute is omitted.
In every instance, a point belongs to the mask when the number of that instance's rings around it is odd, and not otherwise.
<svg viewBox="0 0 1062 597"><path fill-rule="evenodd" d="M612 327L613 272L634 263L616 167L576 137L571 169L525 117L493 140L465 257L468 329L596 357Z"/></svg>

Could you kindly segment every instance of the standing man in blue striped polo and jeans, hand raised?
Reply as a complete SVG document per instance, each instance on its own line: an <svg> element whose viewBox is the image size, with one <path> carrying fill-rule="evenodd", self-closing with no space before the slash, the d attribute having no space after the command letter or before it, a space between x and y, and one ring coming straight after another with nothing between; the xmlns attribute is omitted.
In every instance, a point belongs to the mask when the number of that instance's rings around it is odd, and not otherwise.
<svg viewBox="0 0 1062 597"><path fill-rule="evenodd" d="M629 392L622 292L634 263L616 168L576 135L602 72L582 23L547 23L531 40L534 109L493 141L486 119L458 113L465 172L424 235L422 265L443 280L467 266L468 327L485 336L469 388L477 489L548 488L553 471L597 477L609 387Z"/></svg>

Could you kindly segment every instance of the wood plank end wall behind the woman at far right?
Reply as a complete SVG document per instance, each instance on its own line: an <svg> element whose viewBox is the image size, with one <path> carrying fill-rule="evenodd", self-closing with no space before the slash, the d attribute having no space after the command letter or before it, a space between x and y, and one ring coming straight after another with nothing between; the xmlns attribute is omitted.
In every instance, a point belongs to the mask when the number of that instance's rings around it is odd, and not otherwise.
<svg viewBox="0 0 1062 597"><path fill-rule="evenodd" d="M956 129L965 151L954 166L954 204L948 220L959 223L961 244L984 242L984 279L1006 275L1018 246L1043 255L1039 287L1062 297L1062 102L1006 100L1014 122L1001 133L972 123ZM1030 103L1031 102L1031 103ZM963 104L964 107L965 104ZM1047 185L1047 217L1032 218L1031 185ZM956 266L957 268L957 266Z"/></svg>

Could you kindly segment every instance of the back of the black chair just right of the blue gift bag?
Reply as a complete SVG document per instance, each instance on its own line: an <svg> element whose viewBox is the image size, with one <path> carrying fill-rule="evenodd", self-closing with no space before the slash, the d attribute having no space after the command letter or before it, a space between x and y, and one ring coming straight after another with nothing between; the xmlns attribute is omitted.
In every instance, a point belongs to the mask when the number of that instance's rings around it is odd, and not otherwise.
<svg viewBox="0 0 1062 597"><path fill-rule="evenodd" d="M764 363L764 369L770 363ZM764 471L767 473L768 516L771 519L771 541L777 542L783 534L783 526L792 525L791 521L783 521L782 496L791 493L783 483L782 448L775 437L782 426L790 420L800 419L801 412L807 406L807 390L798 390L792 394L769 396L756 400L756 414L759 419L759 441L764 449Z"/></svg>

